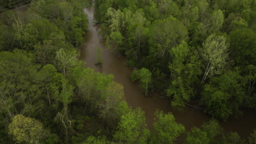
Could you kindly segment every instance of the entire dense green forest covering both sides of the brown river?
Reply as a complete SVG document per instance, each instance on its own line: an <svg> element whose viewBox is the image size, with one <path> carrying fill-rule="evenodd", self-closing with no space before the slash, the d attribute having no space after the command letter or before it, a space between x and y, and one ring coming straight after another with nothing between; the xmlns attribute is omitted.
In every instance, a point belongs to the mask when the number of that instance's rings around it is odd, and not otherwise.
<svg viewBox="0 0 256 144"><path fill-rule="evenodd" d="M256 130L243 139L218 123L256 109L254 0L34 0L16 9L27 2L0 0L0 143L256 143ZM185 129L156 110L149 130L114 75L79 60L92 5L145 97L158 91L177 111L194 101L213 119Z"/></svg>

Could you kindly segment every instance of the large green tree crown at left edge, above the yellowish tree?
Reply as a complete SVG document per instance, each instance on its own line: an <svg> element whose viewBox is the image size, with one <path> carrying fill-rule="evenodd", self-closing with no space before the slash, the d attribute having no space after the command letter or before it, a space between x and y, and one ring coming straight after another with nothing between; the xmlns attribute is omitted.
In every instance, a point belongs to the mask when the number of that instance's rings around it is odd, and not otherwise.
<svg viewBox="0 0 256 144"><path fill-rule="evenodd" d="M38 67L31 57L19 50L0 52L0 65L0 103L4 105L1 107L4 113L12 117L14 112L30 113L40 109L32 107L40 97L40 90L35 83Z"/></svg>

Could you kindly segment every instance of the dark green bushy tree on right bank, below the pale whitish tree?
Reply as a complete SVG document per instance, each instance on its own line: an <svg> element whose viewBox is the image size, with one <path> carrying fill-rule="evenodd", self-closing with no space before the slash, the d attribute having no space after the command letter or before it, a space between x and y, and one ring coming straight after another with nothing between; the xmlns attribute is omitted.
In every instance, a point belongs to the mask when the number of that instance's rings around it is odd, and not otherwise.
<svg viewBox="0 0 256 144"><path fill-rule="evenodd" d="M239 115L245 98L244 86L238 71L229 70L219 77L213 77L202 92L202 103L206 106L204 111L224 121L230 115Z"/></svg>

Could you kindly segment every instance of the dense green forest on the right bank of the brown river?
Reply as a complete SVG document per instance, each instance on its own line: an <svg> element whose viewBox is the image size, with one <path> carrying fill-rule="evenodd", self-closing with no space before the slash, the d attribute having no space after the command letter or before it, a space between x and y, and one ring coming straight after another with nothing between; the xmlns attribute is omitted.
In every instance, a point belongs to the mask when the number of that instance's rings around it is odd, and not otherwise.
<svg viewBox="0 0 256 144"><path fill-rule="evenodd" d="M95 8L106 43L127 57L146 95L159 91L178 110L201 101L224 121L256 109L255 1L97 0Z"/></svg>

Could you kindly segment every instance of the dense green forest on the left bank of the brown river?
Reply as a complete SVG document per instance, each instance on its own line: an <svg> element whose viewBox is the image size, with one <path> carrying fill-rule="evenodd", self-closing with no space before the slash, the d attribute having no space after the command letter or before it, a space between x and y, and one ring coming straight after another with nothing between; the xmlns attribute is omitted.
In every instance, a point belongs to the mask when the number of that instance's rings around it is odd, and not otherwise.
<svg viewBox="0 0 256 144"><path fill-rule="evenodd" d="M85 5L39 0L1 13L0 143L82 143L108 135L128 107L113 75L78 59Z"/></svg>

